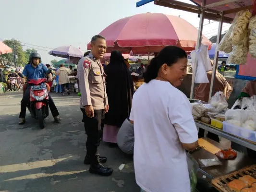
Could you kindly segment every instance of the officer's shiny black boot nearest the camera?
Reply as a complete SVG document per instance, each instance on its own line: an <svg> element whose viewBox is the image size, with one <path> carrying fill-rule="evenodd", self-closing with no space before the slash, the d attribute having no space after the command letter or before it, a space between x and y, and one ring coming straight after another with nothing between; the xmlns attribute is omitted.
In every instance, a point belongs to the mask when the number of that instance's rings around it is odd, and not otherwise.
<svg viewBox="0 0 256 192"><path fill-rule="evenodd" d="M91 166L89 168L89 172L102 176L110 176L113 173L113 169L103 166L99 162L99 155L96 155L91 158Z"/></svg>

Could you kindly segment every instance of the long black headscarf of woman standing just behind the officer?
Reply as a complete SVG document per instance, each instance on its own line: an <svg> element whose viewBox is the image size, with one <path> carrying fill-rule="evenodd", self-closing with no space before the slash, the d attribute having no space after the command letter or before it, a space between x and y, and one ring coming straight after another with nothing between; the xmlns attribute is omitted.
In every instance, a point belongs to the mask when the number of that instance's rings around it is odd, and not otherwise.
<svg viewBox="0 0 256 192"><path fill-rule="evenodd" d="M121 127L131 112L134 84L120 51L111 52L110 64L104 71L107 74L106 89L109 101L105 124Z"/></svg>

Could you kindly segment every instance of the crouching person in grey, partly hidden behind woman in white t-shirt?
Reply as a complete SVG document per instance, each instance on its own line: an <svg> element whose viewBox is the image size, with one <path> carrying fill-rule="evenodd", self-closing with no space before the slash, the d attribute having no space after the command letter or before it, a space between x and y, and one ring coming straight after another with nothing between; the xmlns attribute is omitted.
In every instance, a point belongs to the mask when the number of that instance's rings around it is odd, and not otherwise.
<svg viewBox="0 0 256 192"><path fill-rule="evenodd" d="M127 118L117 134L117 145L126 154L134 154L134 125Z"/></svg>

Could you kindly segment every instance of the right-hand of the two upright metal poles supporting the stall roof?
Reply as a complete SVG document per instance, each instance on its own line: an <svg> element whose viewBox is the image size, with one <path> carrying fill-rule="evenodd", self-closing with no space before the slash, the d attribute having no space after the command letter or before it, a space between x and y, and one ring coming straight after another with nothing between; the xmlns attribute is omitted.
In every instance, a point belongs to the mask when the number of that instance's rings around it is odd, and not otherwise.
<svg viewBox="0 0 256 192"><path fill-rule="evenodd" d="M224 15L221 12L221 19L219 21L219 29L218 29L216 48L215 48L215 54L214 54L214 63L213 63L213 67L212 67L212 75L211 75L211 82L210 82L210 93L209 93L208 102L210 102L211 97L212 97L212 90L213 90L213 86L214 86L215 75L216 75L216 72L217 72L217 69L218 69L218 59L219 59L218 45L219 45L219 42L221 40L221 31L222 31L223 18L224 18Z"/></svg>

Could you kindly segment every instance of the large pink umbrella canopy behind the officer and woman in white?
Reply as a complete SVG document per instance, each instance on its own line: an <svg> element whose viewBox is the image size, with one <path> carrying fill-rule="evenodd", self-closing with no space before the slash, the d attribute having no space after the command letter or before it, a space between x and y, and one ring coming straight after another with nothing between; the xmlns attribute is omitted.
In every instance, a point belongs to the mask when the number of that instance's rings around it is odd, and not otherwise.
<svg viewBox="0 0 256 192"><path fill-rule="evenodd" d="M173 45L185 51L195 50L198 30L184 19L162 13L142 13L120 19L99 33L107 40L107 52L118 49L122 53L142 54L159 52ZM202 36L202 43L211 42ZM87 49L90 49L90 43Z"/></svg>

